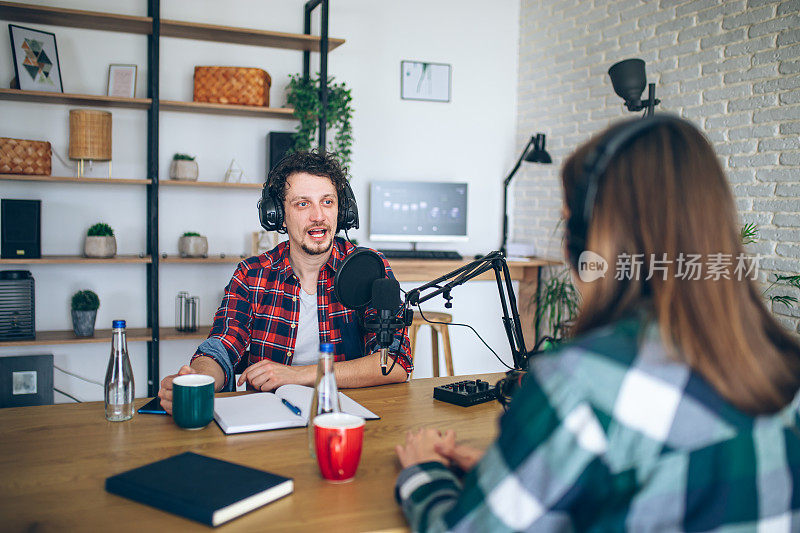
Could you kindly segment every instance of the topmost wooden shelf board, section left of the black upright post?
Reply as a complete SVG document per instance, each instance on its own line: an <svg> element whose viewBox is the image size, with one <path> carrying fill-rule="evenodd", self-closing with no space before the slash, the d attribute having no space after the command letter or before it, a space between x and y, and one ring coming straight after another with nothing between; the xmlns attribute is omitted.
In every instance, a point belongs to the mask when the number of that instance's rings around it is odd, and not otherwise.
<svg viewBox="0 0 800 533"><path fill-rule="evenodd" d="M153 33L153 19L150 17L35 6L17 2L0 2L0 19L139 35Z"/></svg>

